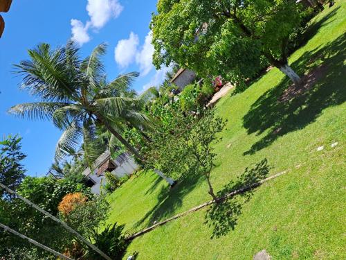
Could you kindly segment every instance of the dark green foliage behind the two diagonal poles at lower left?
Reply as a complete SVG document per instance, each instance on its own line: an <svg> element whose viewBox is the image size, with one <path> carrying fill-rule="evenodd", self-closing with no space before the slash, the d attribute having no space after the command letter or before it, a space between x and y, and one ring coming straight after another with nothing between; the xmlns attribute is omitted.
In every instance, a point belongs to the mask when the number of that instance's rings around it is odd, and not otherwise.
<svg viewBox="0 0 346 260"><path fill-rule="evenodd" d="M17 192L54 216L57 216L57 207L67 193L82 192L91 198L90 190L82 184L56 180L53 177L26 177L17 188ZM61 252L73 240L73 236L51 218L47 218L18 198L1 201L0 216L1 223ZM3 245L0 254L8 257L12 255L13 259L21 259L17 253L33 254L35 255L33 259L50 259L51 257L50 254L18 239L17 236L2 231L0 243Z"/></svg>

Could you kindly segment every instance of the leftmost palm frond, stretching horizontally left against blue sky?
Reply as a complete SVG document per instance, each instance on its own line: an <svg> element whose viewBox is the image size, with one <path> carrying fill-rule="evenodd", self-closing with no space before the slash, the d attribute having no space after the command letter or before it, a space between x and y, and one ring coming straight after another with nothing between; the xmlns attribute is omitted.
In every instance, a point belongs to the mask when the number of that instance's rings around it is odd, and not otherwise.
<svg viewBox="0 0 346 260"><path fill-rule="evenodd" d="M20 118L26 119L52 119L55 110L70 105L69 103L60 102L34 102L15 105L8 110L8 113L14 114Z"/></svg>

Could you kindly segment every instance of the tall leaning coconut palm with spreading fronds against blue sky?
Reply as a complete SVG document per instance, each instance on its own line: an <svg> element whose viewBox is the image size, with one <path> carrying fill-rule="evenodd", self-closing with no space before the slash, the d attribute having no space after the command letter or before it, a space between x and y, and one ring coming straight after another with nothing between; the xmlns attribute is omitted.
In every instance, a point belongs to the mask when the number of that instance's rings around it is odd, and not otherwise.
<svg viewBox="0 0 346 260"><path fill-rule="evenodd" d="M101 56L106 44L98 45L85 59L78 55L73 42L51 49L49 44L39 44L28 50L30 60L15 65L23 76L21 88L41 99L10 108L9 112L27 119L53 119L63 130L57 142L55 159L61 160L69 151L83 144L84 159L89 166L104 152L97 129L103 125L138 159L142 159L117 131L121 121L149 125L150 121L137 110L137 99L129 87L138 73L122 74L107 82ZM103 148L103 149L102 149Z"/></svg>

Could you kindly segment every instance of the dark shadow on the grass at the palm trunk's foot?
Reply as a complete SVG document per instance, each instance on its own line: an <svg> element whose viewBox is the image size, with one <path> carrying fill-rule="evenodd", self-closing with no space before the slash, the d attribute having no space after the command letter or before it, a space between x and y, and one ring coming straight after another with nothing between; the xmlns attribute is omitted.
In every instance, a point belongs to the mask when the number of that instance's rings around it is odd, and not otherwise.
<svg viewBox="0 0 346 260"><path fill-rule="evenodd" d="M188 174L188 177L181 180L181 182L176 184L172 189L163 185L158 194L158 202L155 207L147 211L145 216L138 220L134 226L140 227L145 221L147 221L147 225L153 225L160 220L172 216L172 214L176 212L176 209L183 204L183 198L202 181L201 176L194 174L194 168L192 168L191 171L192 173ZM156 187L158 183L160 182L155 182L153 186ZM147 192L152 192L152 187L149 188Z"/></svg>

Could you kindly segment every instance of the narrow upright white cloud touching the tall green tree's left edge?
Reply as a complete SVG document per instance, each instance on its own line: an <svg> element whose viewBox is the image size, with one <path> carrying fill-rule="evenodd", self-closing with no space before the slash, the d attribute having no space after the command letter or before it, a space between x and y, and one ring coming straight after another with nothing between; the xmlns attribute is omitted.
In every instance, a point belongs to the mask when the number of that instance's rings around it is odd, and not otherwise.
<svg viewBox="0 0 346 260"><path fill-rule="evenodd" d="M145 37L142 49L136 54L136 63L140 68L140 76L145 76L152 68L152 55L154 54L154 46L152 45L152 31Z"/></svg>

